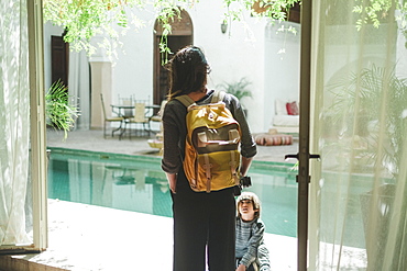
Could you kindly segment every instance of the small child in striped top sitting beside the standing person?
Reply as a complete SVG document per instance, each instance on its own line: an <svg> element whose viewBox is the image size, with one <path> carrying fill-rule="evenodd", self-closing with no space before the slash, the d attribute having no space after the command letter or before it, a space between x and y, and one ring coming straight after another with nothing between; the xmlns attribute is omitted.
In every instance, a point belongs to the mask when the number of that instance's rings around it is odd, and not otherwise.
<svg viewBox="0 0 407 271"><path fill-rule="evenodd" d="M252 192L242 192L237 204L237 271L270 271L268 250L264 244L265 225L260 219L260 200Z"/></svg>

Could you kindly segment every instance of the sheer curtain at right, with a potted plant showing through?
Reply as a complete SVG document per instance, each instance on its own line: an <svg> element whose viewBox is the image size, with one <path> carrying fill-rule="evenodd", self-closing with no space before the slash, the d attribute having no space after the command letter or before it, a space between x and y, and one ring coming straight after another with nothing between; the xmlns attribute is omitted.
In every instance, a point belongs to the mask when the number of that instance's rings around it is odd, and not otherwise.
<svg viewBox="0 0 407 271"><path fill-rule="evenodd" d="M407 270L407 41L371 3L312 1L309 270Z"/></svg>

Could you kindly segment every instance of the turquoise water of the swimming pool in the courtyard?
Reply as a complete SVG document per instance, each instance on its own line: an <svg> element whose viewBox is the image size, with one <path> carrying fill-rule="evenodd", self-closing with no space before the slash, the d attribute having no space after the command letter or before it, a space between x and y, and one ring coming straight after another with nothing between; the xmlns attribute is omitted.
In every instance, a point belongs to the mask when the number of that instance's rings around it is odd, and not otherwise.
<svg viewBox="0 0 407 271"><path fill-rule="evenodd" d="M51 148L48 197L172 216L172 200L160 157ZM253 161L249 171L262 201L266 233L296 237L296 171L289 163Z"/></svg>

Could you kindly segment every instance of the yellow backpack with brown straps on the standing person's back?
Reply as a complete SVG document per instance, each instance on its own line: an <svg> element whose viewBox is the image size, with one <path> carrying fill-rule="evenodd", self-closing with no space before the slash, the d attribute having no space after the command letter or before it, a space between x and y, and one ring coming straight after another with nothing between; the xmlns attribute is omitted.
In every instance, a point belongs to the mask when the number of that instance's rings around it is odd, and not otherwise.
<svg viewBox="0 0 407 271"><path fill-rule="evenodd" d="M239 184L240 125L216 91L211 103L197 105L188 95L176 99L187 109L184 171L194 191L210 192Z"/></svg>

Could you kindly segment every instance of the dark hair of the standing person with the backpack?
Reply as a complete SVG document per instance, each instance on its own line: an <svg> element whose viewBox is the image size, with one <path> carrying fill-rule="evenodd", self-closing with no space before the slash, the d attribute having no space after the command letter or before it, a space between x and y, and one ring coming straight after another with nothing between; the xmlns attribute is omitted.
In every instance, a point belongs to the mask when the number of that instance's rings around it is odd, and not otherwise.
<svg viewBox="0 0 407 271"><path fill-rule="evenodd" d="M197 46L186 46L177 52L169 61L168 99L190 92L204 91L207 83L209 65Z"/></svg>

